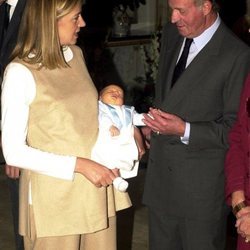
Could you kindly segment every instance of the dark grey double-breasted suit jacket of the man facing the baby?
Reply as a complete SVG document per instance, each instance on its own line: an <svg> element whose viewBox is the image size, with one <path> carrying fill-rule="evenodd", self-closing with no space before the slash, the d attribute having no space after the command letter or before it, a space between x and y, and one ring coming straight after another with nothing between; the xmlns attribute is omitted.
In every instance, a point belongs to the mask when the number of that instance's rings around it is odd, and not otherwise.
<svg viewBox="0 0 250 250"><path fill-rule="evenodd" d="M220 218L225 209L224 158L249 48L223 24L171 89L183 42L174 25L163 31L155 106L190 122L189 144L178 136L151 136L143 201L168 215Z"/></svg>

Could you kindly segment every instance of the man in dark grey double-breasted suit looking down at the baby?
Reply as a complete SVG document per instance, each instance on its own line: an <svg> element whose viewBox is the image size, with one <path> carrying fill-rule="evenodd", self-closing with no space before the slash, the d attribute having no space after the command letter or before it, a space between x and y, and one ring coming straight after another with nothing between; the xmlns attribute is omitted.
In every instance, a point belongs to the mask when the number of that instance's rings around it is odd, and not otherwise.
<svg viewBox="0 0 250 250"><path fill-rule="evenodd" d="M172 24L162 36L156 108L144 121L152 130L143 196L150 249L223 250L227 134L250 52L221 22L214 0L168 3ZM186 40L186 69L173 77Z"/></svg>

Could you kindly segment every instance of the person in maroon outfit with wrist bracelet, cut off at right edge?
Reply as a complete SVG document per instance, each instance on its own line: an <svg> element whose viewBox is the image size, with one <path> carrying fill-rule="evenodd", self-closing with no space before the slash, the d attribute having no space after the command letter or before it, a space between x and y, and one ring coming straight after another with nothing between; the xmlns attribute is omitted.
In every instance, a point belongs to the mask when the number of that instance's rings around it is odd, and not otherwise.
<svg viewBox="0 0 250 250"><path fill-rule="evenodd" d="M226 198L237 218L238 250L250 249L250 74L241 95L238 118L229 134ZM247 228L249 227L249 228Z"/></svg>

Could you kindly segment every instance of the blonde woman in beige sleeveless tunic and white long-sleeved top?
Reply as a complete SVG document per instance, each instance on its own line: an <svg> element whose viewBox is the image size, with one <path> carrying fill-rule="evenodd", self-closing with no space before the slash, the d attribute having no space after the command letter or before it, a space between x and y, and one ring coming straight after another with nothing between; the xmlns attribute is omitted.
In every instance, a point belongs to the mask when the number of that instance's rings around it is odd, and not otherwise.
<svg viewBox="0 0 250 250"><path fill-rule="evenodd" d="M117 169L90 160L98 96L78 32L82 0L28 0L2 87L2 146L22 168L20 234L25 249L116 249L115 212L127 193Z"/></svg>

